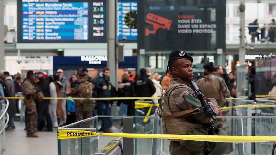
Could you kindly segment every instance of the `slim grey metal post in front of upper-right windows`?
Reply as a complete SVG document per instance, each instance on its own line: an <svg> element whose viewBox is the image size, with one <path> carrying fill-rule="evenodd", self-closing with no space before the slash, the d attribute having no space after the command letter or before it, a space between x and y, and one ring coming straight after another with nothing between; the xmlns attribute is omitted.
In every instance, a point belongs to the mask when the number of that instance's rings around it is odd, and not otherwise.
<svg viewBox="0 0 276 155"><path fill-rule="evenodd" d="M245 0L240 0L240 48L239 48L239 61L240 65L243 65L245 62Z"/></svg>

